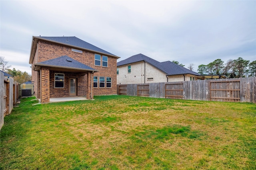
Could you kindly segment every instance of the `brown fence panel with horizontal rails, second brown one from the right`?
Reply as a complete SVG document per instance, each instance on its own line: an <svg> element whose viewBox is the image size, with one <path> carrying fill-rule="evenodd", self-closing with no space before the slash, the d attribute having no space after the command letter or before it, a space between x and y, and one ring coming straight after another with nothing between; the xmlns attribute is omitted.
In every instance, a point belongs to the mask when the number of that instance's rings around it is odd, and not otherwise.
<svg viewBox="0 0 256 170"><path fill-rule="evenodd" d="M183 99L183 82L165 84L165 98L167 99Z"/></svg>

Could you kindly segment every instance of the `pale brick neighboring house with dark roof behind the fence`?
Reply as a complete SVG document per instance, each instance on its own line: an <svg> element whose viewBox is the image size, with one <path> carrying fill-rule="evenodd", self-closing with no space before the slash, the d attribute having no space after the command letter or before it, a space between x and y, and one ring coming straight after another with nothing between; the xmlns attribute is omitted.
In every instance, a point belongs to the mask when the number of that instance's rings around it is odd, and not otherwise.
<svg viewBox="0 0 256 170"><path fill-rule="evenodd" d="M200 74L170 61L158 62L143 54L117 63L118 84L176 82L204 79Z"/></svg>

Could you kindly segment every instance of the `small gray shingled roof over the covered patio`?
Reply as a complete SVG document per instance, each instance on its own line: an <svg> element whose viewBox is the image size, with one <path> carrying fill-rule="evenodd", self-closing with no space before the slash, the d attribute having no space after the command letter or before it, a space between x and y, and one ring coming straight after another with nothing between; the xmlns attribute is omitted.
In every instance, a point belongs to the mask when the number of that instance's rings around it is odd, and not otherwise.
<svg viewBox="0 0 256 170"><path fill-rule="evenodd" d="M36 63L35 65L52 66L52 67L58 66L58 67L63 67L63 68L74 68L74 69L97 71L94 68L89 67L85 64L82 64L66 55L58 57L56 59L51 59L51 60L43 61L40 63Z"/></svg>

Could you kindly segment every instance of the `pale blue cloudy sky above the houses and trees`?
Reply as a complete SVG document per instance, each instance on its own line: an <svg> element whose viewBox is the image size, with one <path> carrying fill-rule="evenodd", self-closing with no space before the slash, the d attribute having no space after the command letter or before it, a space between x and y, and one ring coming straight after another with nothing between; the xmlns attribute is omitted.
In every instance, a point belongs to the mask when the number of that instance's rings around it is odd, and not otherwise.
<svg viewBox="0 0 256 170"><path fill-rule="evenodd" d="M124 60L187 68L256 60L256 1L0 1L0 55L31 74L32 36L76 36Z"/></svg>

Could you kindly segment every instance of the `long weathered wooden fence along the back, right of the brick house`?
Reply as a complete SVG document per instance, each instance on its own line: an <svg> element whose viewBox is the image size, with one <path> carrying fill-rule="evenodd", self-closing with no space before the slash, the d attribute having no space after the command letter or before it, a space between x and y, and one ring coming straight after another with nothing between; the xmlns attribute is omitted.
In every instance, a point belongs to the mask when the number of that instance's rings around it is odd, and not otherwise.
<svg viewBox="0 0 256 170"><path fill-rule="evenodd" d="M117 93L153 98L256 103L256 77L119 84Z"/></svg>

